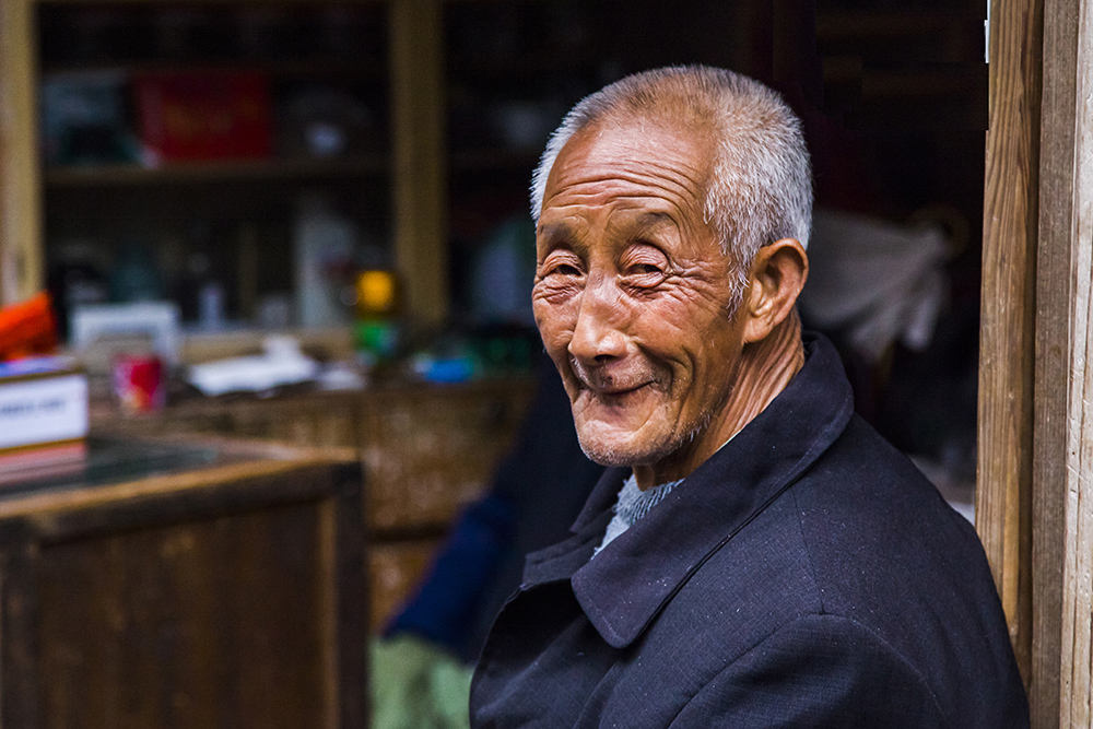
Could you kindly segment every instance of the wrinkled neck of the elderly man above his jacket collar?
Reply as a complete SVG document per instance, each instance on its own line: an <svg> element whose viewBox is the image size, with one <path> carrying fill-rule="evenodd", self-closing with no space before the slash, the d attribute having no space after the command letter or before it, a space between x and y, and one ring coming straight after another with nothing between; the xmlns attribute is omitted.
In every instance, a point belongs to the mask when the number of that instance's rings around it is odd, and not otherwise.
<svg viewBox="0 0 1093 729"><path fill-rule="evenodd" d="M721 409L721 416L708 432L712 437L703 438L712 446L709 452L687 452L684 458L691 467L677 461L650 466L635 466L637 485L645 491L659 483L683 479L700 463L717 452L732 436L763 412L768 404L786 389L794 376L804 366L804 345L801 342L801 320L794 309L785 321L775 327L762 341L748 344L740 355L736 384L728 401Z"/></svg>

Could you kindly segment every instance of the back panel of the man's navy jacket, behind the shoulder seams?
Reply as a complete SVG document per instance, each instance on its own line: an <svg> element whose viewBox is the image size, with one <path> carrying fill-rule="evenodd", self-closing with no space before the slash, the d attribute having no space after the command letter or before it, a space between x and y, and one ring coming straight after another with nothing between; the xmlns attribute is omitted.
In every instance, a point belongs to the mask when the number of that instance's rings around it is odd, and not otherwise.
<svg viewBox="0 0 1093 729"><path fill-rule="evenodd" d="M998 706L1022 716L1024 691L975 529L908 458L855 418L787 496L821 613L854 621L902 656L953 726L980 726L974 717Z"/></svg>

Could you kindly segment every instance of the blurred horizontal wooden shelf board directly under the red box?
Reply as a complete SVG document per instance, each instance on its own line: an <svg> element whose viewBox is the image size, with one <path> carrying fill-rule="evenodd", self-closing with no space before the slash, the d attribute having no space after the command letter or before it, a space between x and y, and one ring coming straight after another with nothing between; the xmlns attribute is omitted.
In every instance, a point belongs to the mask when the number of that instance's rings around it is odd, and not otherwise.
<svg viewBox="0 0 1093 729"><path fill-rule="evenodd" d="M243 160L192 162L141 167L139 165L89 165L45 171L46 188L125 187L131 185L192 185L201 183L292 181L307 179L374 177L388 172L386 157L351 160Z"/></svg>

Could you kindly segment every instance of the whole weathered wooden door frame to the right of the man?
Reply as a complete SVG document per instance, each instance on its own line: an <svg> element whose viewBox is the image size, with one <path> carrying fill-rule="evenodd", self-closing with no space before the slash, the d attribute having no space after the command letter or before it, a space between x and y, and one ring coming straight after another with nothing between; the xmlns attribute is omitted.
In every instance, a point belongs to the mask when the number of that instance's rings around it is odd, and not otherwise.
<svg viewBox="0 0 1093 729"><path fill-rule="evenodd" d="M1091 23L1091 0L991 2L976 527L1034 729L1093 718Z"/></svg>

